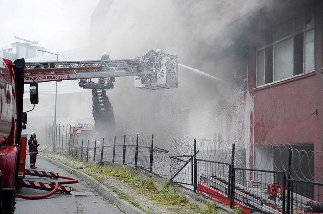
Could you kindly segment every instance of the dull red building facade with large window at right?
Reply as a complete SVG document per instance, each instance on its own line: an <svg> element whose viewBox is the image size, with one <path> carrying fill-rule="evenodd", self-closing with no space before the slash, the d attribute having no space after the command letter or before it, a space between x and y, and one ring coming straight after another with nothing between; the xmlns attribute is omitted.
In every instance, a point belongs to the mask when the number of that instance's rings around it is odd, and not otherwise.
<svg viewBox="0 0 323 214"><path fill-rule="evenodd" d="M250 26L255 37L247 51L250 165L283 170L292 155L292 176L318 182L317 172L323 171L322 9L321 1L274 1L255 15Z"/></svg>

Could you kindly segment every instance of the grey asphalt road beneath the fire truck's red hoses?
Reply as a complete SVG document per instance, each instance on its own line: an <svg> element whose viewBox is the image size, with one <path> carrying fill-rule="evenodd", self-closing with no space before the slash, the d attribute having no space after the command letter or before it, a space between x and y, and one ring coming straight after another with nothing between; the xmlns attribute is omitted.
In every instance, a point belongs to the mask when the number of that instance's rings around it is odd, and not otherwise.
<svg viewBox="0 0 323 214"><path fill-rule="evenodd" d="M29 159L26 159L26 162L29 164ZM49 172L58 172L61 175L70 176L67 171L64 171L57 166L47 162L43 159L37 157L36 170L49 171ZM26 166L29 169L29 165ZM41 181L49 183L52 181L49 178L40 178L34 176L26 176L25 179L33 181ZM66 195L56 193L49 198L41 200L25 200L16 198L16 211L15 214L36 214L36 213L45 213L45 214L99 214L99 213L123 213L115 207L111 202L103 199L103 197L97 193L91 186L85 183L82 180L79 180L79 183L76 184L67 184L66 186L72 186L73 189L77 192L83 192L85 195L92 196L80 196L80 195ZM18 190L18 193L21 194L43 194L47 191L21 188ZM93 193L93 194L92 194Z"/></svg>

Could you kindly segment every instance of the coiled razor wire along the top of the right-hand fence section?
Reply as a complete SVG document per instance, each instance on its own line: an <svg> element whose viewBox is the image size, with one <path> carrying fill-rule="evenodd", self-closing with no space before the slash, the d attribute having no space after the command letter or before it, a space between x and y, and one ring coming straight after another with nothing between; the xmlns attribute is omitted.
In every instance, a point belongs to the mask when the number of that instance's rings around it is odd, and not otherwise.
<svg viewBox="0 0 323 214"><path fill-rule="evenodd" d="M171 177L183 167L183 163L187 162L190 156L193 156L193 143L193 138L174 138L172 140L170 157L185 157L171 158ZM219 134L216 139L196 139L198 151L196 158L230 164L233 143L235 144L235 167L288 172L289 179L292 180L323 182L323 170L320 166L320 163L323 163L323 151L300 148L304 145L283 143L253 145L229 140ZM189 180L190 166L184 167L182 171L182 174L178 174L176 179Z"/></svg>

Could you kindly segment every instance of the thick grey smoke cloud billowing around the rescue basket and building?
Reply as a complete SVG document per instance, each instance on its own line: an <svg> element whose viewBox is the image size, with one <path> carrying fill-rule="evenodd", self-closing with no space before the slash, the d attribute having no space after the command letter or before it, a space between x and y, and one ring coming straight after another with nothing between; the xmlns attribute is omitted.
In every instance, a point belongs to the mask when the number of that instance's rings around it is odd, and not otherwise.
<svg viewBox="0 0 323 214"><path fill-rule="evenodd" d="M133 77L116 78L107 94L117 128L155 134L155 145L166 149L173 137L214 138L218 132L245 128L250 111L243 110L240 92L247 74L245 47L253 37L247 14L268 2L99 1L91 16L90 47L83 51L86 59L99 59L105 51L111 59L135 58L161 48L180 61L178 89L143 91L133 87ZM89 122L89 91L69 99L69 106L58 111L69 108L70 120Z"/></svg>

